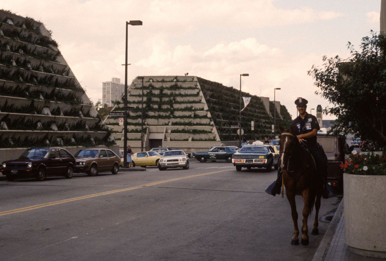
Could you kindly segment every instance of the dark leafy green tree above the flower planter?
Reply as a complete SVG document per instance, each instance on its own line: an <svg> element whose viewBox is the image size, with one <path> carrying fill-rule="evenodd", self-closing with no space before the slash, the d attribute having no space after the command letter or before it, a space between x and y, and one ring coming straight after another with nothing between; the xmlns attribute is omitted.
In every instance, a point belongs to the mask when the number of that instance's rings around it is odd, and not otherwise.
<svg viewBox="0 0 386 261"><path fill-rule="evenodd" d="M308 75L315 79L315 92L327 98L335 115L332 133L354 133L362 140L386 146L386 36L371 31L363 37L361 51L349 42L351 56L323 56L322 68L313 65Z"/></svg>

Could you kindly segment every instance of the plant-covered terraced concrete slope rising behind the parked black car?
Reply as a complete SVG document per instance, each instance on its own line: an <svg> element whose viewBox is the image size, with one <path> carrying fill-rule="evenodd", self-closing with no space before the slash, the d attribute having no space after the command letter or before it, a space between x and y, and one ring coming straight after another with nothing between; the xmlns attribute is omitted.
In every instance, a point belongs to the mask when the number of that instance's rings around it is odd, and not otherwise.
<svg viewBox="0 0 386 261"><path fill-rule="evenodd" d="M0 10L0 148L115 144L41 22Z"/></svg>

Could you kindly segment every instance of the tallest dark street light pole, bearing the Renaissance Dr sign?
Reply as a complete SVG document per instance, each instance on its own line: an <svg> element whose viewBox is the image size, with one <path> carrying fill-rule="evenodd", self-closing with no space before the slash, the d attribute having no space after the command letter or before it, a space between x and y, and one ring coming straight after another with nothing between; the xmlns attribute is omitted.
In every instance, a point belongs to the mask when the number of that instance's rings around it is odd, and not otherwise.
<svg viewBox="0 0 386 261"><path fill-rule="evenodd" d="M125 100L124 100L124 112L126 116L124 116L124 131L123 131L123 165L124 168L127 166L127 27L128 25L142 25L142 21L140 20L131 20L129 22L126 21L126 47L125 47Z"/></svg>

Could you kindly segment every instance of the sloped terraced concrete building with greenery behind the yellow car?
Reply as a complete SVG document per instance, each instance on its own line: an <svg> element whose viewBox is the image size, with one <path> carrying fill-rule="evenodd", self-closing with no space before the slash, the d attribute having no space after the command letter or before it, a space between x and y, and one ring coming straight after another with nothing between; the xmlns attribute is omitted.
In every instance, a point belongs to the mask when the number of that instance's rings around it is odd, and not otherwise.
<svg viewBox="0 0 386 261"><path fill-rule="evenodd" d="M239 90L196 76L144 76L144 149L168 146L186 151L207 149L212 145L238 145ZM243 137L250 141L271 135L274 105L269 98L249 93L251 102L242 111ZM127 117L128 145L137 152L141 148L142 80L128 86L128 106L134 107ZM118 102L113 111L123 111ZM111 128L117 144L123 148L123 126L119 116L108 116L105 124ZM254 121L254 130L251 121ZM289 126L291 117L280 102L276 102L276 122Z"/></svg>

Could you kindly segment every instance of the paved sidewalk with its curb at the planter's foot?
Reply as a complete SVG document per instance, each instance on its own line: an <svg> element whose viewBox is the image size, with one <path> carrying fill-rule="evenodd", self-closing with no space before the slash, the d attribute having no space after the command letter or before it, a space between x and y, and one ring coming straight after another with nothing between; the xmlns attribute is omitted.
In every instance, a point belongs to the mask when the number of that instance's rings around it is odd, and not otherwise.
<svg viewBox="0 0 386 261"><path fill-rule="evenodd" d="M340 202L330 226L328 227L312 261L380 261L385 259L371 258L351 253L344 243L344 206Z"/></svg>

